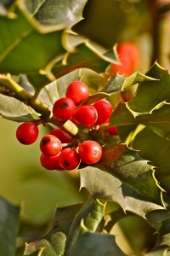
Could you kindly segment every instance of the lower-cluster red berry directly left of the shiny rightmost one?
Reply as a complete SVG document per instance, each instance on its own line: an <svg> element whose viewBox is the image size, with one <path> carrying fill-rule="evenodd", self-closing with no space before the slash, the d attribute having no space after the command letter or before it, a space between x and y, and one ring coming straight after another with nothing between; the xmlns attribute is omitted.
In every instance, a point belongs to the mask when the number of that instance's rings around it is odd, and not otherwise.
<svg viewBox="0 0 170 256"><path fill-rule="evenodd" d="M74 170L79 163L80 157L74 148L65 148L59 154L59 165L67 171Z"/></svg>

